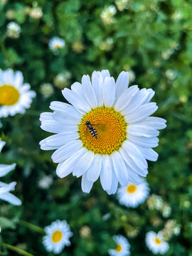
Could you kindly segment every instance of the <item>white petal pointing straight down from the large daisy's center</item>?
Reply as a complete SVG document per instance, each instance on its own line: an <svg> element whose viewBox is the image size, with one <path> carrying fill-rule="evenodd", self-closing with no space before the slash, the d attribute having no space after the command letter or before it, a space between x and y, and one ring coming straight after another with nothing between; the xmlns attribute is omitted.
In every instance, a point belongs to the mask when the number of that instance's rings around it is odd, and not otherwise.
<svg viewBox="0 0 192 256"><path fill-rule="evenodd" d="M105 191L109 191L112 186L112 164L107 155L102 156L102 170L100 174L100 182Z"/></svg>

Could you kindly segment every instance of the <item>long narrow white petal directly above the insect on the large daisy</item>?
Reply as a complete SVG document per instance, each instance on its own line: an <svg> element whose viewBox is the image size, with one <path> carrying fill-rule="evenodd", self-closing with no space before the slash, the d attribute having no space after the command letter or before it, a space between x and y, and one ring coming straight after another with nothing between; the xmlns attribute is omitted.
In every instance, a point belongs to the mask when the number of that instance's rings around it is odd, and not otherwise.
<svg viewBox="0 0 192 256"><path fill-rule="evenodd" d="M97 98L95 95L95 91L92 88L92 84L90 81L89 75L82 76L82 90L85 95L85 99L91 108L97 107Z"/></svg>

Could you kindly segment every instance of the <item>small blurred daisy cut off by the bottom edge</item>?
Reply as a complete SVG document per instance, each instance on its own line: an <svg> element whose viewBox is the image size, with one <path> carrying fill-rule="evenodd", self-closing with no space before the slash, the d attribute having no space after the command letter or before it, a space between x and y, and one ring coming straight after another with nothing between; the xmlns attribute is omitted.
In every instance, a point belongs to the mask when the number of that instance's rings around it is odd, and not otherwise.
<svg viewBox="0 0 192 256"><path fill-rule="evenodd" d="M114 235L114 242L117 243L116 249L110 249L109 255L111 256L128 256L130 255L130 245L123 235Z"/></svg>

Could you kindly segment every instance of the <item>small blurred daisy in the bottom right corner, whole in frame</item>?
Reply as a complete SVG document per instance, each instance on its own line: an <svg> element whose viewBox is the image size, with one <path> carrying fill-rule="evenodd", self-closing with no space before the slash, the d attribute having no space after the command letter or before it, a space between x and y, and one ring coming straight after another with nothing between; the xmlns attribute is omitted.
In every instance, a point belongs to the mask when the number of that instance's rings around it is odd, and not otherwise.
<svg viewBox="0 0 192 256"><path fill-rule="evenodd" d="M145 239L146 245L153 252L156 254L164 255L169 250L168 242L164 241L163 235L161 232L154 233L153 231L149 231L146 233Z"/></svg>

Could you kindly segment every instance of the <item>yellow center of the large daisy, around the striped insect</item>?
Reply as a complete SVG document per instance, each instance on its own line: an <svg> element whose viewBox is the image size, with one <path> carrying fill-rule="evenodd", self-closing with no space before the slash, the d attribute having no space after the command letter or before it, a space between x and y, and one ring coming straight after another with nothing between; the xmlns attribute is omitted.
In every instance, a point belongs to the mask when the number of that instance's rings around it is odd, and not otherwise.
<svg viewBox="0 0 192 256"><path fill-rule="evenodd" d="M96 129L97 138L92 136L86 122ZM97 107L82 117L79 124L80 139L88 150L96 154L112 154L122 146L126 128L124 117L119 112L110 107Z"/></svg>

